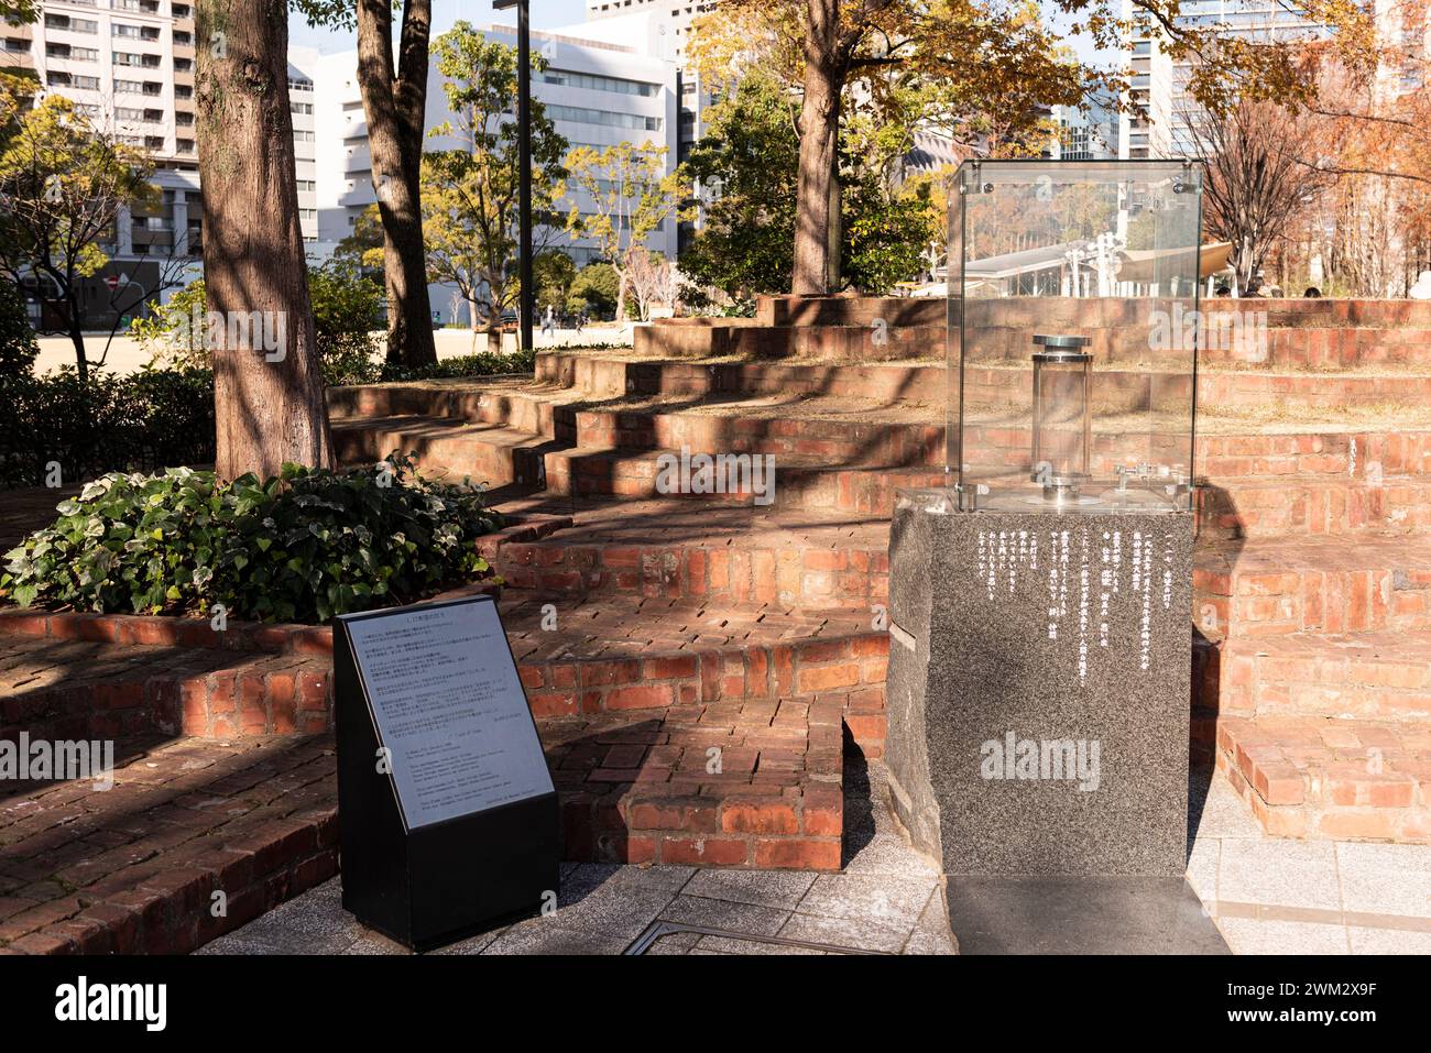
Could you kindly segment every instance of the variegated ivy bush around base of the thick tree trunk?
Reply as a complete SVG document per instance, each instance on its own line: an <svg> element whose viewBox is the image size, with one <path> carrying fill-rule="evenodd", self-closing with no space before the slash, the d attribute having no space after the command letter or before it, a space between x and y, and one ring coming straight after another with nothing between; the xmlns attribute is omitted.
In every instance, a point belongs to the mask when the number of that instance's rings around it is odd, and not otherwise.
<svg viewBox="0 0 1431 1053"><path fill-rule="evenodd" d="M0 595L23 607L328 621L491 577L482 491L424 479L411 458L279 478L170 468L112 472L6 554Z"/></svg>

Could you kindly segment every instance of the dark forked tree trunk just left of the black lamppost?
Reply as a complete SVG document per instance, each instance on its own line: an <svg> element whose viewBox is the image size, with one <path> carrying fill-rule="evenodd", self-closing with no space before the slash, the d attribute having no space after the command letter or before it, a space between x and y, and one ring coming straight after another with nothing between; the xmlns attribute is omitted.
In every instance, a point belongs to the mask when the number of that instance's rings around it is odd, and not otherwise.
<svg viewBox="0 0 1431 1053"><path fill-rule="evenodd" d="M431 0L406 0L401 56L392 57L392 1L358 0L358 86L368 117L372 185L382 216L388 361L438 361L422 248L422 133L428 103Z"/></svg>

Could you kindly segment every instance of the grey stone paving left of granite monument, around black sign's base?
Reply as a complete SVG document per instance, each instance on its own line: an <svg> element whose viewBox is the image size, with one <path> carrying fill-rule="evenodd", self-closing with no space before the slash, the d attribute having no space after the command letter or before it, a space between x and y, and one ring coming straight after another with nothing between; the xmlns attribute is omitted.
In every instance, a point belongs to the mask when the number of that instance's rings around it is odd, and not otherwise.
<svg viewBox="0 0 1431 1053"><path fill-rule="evenodd" d="M893 828L881 771L869 795L846 778L843 874L562 864L558 908L444 949L445 954L620 954L654 921L887 954L952 954L936 870ZM402 954L341 904L338 880L290 900L200 954ZM695 933L658 939L654 954L819 954L809 947Z"/></svg>

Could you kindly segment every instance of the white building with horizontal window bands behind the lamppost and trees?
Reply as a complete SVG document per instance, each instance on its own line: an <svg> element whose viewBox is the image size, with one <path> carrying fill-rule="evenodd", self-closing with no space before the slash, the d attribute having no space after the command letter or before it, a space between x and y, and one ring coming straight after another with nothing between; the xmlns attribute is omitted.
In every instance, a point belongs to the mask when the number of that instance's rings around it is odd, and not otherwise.
<svg viewBox="0 0 1431 1053"><path fill-rule="evenodd" d="M584 29L584 27L581 27ZM491 26L488 39L515 46L515 30ZM665 147L665 170L675 169L671 136L675 126L675 66L647 54L633 41L585 39L568 31L531 34L532 50L542 54L547 69L532 74L532 97L542 102L557 132L575 146L602 150L621 142L651 143ZM323 243L339 242L352 233L362 212L376 202L372 185L372 157L368 150L368 122L358 86L358 53L325 54L315 62L313 120L318 129L318 236ZM295 96L296 97L296 96ZM428 72L429 129L454 120L442 90L442 74L434 64ZM456 140L435 137L432 149L454 149ZM572 207L591 212L594 203L585 192L568 186L561 213ZM538 230L538 242L567 252L582 266L597 256L588 239L572 240L555 225ZM675 256L675 222L665 220L647 239L647 246L668 258ZM434 313L444 322L464 323L468 306L455 289L431 286Z"/></svg>

